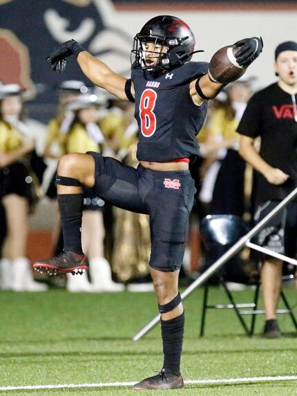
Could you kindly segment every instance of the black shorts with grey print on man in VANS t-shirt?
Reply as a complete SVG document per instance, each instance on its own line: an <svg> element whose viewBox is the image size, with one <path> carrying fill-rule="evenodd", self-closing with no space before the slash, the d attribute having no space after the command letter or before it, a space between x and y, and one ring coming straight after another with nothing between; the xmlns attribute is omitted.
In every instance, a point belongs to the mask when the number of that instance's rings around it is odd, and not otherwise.
<svg viewBox="0 0 297 396"><path fill-rule="evenodd" d="M267 200L258 205L254 220L256 224L265 218L279 200ZM274 252L296 258L297 253L297 202L290 202L276 214L254 237L255 243Z"/></svg>

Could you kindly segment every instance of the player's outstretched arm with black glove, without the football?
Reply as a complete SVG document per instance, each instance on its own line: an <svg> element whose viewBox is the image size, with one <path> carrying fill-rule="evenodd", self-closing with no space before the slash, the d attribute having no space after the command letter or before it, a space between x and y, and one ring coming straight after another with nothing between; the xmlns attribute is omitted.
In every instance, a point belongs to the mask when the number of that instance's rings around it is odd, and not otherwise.
<svg viewBox="0 0 297 396"><path fill-rule="evenodd" d="M66 41L52 51L48 57L52 70L63 73L66 68L66 60L70 55L77 56L80 68L91 82L106 89L119 99L128 100L125 93L127 79L113 72L104 62L88 53L75 40ZM131 86L131 93L134 95L133 85Z"/></svg>

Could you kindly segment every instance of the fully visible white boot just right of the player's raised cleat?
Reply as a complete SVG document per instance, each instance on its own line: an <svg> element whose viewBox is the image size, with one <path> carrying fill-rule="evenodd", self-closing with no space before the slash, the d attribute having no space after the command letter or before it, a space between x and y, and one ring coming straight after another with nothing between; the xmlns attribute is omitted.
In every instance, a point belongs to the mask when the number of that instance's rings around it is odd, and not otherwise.
<svg viewBox="0 0 297 396"><path fill-rule="evenodd" d="M90 279L96 292L122 292L125 286L111 279L111 266L104 257L89 260Z"/></svg>

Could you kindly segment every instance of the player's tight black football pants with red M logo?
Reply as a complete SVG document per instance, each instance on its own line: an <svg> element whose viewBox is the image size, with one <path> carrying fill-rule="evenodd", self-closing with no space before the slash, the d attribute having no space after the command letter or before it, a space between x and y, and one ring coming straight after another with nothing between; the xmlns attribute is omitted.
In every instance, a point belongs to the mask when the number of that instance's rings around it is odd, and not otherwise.
<svg viewBox="0 0 297 396"><path fill-rule="evenodd" d="M129 167L89 151L95 160L96 194L112 205L150 216L149 265L164 272L179 270L189 233L194 180L189 171L152 171Z"/></svg>

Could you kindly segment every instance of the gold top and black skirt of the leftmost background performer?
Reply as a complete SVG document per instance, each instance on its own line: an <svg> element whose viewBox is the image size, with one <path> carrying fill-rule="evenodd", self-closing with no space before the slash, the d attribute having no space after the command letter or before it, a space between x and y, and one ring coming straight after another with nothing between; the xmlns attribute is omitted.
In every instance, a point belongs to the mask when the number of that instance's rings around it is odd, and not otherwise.
<svg viewBox="0 0 297 396"><path fill-rule="evenodd" d="M0 121L0 154L10 153L23 145L23 135L8 122ZM21 158L0 169L0 196L17 194L28 198L29 204L36 198L28 158Z"/></svg>

